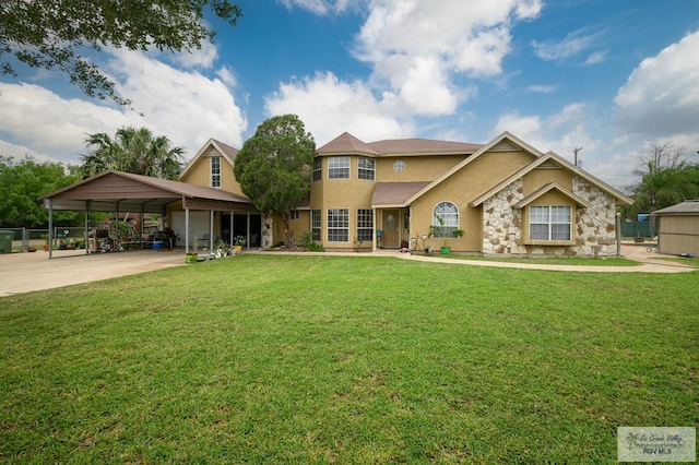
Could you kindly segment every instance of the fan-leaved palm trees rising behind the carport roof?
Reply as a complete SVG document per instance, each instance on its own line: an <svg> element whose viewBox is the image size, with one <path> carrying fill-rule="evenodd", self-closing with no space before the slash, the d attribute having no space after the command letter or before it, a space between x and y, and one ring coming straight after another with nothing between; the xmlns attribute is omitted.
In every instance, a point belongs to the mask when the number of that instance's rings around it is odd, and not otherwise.
<svg viewBox="0 0 699 465"><path fill-rule="evenodd" d="M157 138L147 128L119 128L111 139L108 134L87 134L88 153L81 157L83 177L110 169L177 179L182 168L181 147L173 147L165 135Z"/></svg>

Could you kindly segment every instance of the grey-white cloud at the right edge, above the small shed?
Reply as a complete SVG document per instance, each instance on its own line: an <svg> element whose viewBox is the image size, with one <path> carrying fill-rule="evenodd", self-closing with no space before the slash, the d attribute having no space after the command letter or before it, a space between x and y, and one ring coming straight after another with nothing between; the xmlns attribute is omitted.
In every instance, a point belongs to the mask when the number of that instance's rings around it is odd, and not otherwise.
<svg viewBox="0 0 699 465"><path fill-rule="evenodd" d="M645 58L619 88L617 121L651 138L687 138L699 144L699 32Z"/></svg>

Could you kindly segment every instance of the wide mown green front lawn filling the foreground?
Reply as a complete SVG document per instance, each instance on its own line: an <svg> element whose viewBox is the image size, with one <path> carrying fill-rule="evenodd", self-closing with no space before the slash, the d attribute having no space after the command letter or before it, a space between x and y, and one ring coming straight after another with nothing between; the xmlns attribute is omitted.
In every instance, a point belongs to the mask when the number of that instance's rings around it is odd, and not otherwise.
<svg viewBox="0 0 699 465"><path fill-rule="evenodd" d="M250 254L0 298L0 461L613 463L697 424L698 282Z"/></svg>

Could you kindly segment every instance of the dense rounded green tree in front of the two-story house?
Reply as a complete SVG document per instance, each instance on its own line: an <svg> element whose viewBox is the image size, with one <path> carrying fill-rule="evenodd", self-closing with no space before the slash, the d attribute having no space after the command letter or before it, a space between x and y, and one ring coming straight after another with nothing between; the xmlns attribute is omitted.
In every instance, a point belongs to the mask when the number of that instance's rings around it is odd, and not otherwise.
<svg viewBox="0 0 699 465"><path fill-rule="evenodd" d="M316 141L296 115L283 115L260 124L236 155L234 174L242 192L264 214L284 220L286 246L294 247L291 215L310 192Z"/></svg>

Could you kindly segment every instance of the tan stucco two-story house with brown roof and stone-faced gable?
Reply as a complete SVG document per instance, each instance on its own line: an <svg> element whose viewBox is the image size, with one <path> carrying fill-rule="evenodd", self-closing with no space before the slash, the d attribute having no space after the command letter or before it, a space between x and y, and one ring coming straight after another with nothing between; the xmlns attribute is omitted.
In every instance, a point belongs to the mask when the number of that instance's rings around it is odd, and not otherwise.
<svg viewBox="0 0 699 465"><path fill-rule="evenodd" d="M210 140L181 181L242 192L237 151ZM617 205L632 201L583 169L505 132L487 144L424 139L364 142L343 133L313 155L310 198L294 212L298 239L327 250L439 247L485 254L611 255ZM181 213L170 212L177 229ZM284 240L277 218L249 212L201 213L194 226L256 246ZM441 224L439 219L441 218ZM197 222L192 222L196 224ZM431 226L443 226L430 235ZM452 230L464 231L453 237ZM192 231L194 234L196 231ZM428 237L427 237L428 236ZM437 237L435 237L437 236Z"/></svg>

